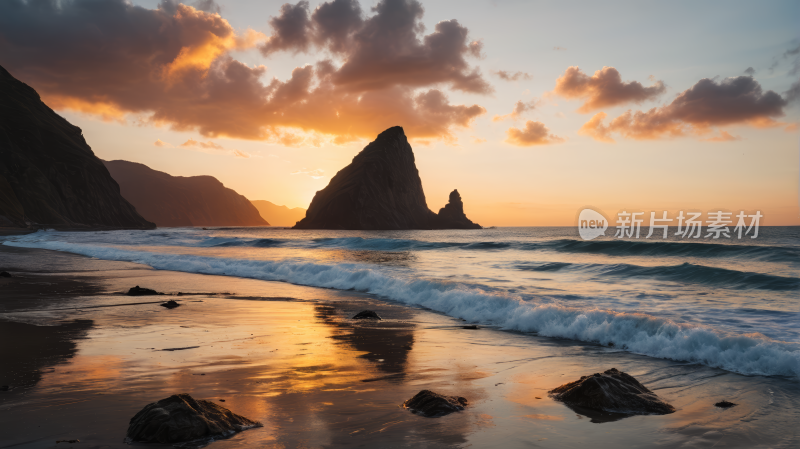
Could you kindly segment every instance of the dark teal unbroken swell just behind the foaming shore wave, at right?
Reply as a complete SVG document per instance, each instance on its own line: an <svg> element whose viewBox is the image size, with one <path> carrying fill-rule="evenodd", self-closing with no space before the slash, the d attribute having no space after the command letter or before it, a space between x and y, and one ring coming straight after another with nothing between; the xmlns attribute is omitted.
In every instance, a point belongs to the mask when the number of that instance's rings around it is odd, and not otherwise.
<svg viewBox="0 0 800 449"><path fill-rule="evenodd" d="M707 267L685 262L680 265L644 267L631 264L573 264L566 262L527 263L516 266L523 271L586 271L597 276L653 278L667 281L732 288L738 290L800 290L800 278Z"/></svg>

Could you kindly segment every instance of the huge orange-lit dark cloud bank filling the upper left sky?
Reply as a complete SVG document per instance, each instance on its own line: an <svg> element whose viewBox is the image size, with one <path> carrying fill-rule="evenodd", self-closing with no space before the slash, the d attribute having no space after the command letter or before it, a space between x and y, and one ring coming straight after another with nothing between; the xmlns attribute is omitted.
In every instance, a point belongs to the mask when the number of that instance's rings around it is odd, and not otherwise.
<svg viewBox="0 0 800 449"><path fill-rule="evenodd" d="M424 35L422 7L412 0L383 0L367 18L355 0L321 4L300 28L309 46L327 48L344 63L322 60L267 82L266 67L236 61L231 51L264 42L267 54L302 50L303 40L287 37L277 22L266 41L252 30L237 34L208 12L218 11L208 0L195 2L207 11L167 0L158 9L125 0L87 8L86 1L0 2L3 64L56 108L104 119L135 113L143 123L207 138L276 142L292 140L284 138L287 130L343 142L373 138L394 125L414 139L453 140L455 128L486 112L477 104L451 104L441 87L491 91L466 62L480 52L480 42L469 40L455 20ZM302 2L292 8L307 12Z"/></svg>

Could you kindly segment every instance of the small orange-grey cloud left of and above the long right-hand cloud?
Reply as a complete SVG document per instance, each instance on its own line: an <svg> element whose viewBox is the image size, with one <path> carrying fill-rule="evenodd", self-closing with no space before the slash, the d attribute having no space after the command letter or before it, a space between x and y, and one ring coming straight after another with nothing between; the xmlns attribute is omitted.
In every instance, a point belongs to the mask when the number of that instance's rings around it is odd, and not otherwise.
<svg viewBox="0 0 800 449"><path fill-rule="evenodd" d="M578 112L587 113L595 109L616 106L624 103L641 103L652 100L666 91L662 81L654 81L644 87L638 81L623 82L619 71L614 67L603 67L588 76L577 66L569 67L556 80L556 95L567 99L584 100Z"/></svg>

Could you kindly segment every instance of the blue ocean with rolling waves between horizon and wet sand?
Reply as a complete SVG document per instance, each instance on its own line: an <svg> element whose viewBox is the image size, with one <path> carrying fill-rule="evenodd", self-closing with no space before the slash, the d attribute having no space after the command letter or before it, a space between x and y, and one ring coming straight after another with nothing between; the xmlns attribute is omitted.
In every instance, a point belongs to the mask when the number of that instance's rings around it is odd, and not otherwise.
<svg viewBox="0 0 800 449"><path fill-rule="evenodd" d="M800 377L799 227L691 241L583 241L572 227L159 228L39 231L0 241L158 270L356 291L509 332Z"/></svg>

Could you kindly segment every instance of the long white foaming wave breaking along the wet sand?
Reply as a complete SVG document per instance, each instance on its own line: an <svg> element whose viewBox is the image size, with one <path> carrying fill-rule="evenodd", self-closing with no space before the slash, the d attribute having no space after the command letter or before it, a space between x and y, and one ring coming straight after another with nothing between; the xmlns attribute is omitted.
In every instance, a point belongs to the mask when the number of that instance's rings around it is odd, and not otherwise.
<svg viewBox="0 0 800 449"><path fill-rule="evenodd" d="M800 376L800 345L760 334L728 334L645 314L537 304L508 293L460 283L404 277L358 264L327 265L160 254L54 241L6 245L67 251L156 269L239 276L299 285L356 290L465 320L541 336L615 347L663 359L702 363L747 375Z"/></svg>

